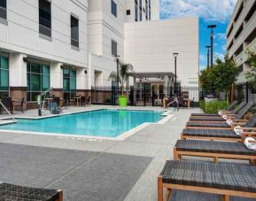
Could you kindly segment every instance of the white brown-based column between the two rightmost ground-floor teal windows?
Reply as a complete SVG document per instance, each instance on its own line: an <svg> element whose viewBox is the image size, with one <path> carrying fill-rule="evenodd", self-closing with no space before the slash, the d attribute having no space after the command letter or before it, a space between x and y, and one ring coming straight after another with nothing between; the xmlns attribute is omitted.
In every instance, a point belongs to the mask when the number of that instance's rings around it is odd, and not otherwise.
<svg viewBox="0 0 256 201"><path fill-rule="evenodd" d="M50 63L50 87L56 97L63 97L63 64L59 62Z"/></svg>

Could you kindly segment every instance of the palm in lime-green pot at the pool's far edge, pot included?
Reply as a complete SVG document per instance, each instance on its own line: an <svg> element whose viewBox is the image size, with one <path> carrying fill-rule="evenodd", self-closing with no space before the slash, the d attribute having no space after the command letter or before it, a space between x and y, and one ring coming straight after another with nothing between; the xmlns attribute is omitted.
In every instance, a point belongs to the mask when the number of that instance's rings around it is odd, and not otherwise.
<svg viewBox="0 0 256 201"><path fill-rule="evenodd" d="M124 85L128 81L129 72L133 71L133 66L131 64L124 64L120 63L120 70L119 70L119 80L117 79L117 73L112 72L109 75L108 80L119 82L121 87L121 96L118 96L118 103L120 106L127 106L128 105L128 96L124 95Z"/></svg>

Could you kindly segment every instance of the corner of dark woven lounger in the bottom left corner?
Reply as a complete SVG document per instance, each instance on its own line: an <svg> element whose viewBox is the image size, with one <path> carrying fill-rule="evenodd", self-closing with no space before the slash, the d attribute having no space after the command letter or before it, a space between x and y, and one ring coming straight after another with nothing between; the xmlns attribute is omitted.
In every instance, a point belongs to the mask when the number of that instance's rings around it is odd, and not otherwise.
<svg viewBox="0 0 256 201"><path fill-rule="evenodd" d="M1 200L36 200L36 201L62 201L61 189L38 189L12 185L6 182L0 183Z"/></svg>

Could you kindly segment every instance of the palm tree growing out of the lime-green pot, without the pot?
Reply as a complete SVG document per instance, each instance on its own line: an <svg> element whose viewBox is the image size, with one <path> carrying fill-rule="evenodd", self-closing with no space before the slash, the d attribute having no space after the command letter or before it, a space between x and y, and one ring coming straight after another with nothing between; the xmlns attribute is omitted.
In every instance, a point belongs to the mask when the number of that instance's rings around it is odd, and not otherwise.
<svg viewBox="0 0 256 201"><path fill-rule="evenodd" d="M126 81L128 81L129 77L129 72L133 71L133 66L131 64L125 64L125 63L120 63L120 70L119 70L119 83L121 85L121 95L123 96L123 91L124 91L124 84ZM109 81L116 81L117 82L117 73L112 72L109 75L108 78Z"/></svg>

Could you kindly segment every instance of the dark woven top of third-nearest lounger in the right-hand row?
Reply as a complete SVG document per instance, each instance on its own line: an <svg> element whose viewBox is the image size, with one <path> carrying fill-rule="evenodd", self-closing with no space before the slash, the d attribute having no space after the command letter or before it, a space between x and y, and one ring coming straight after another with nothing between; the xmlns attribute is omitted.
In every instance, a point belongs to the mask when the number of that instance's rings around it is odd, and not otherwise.
<svg viewBox="0 0 256 201"><path fill-rule="evenodd" d="M224 129L183 129L182 132L187 136L203 136L203 137L224 137L224 138L237 138L240 139L241 136L237 135L233 130Z"/></svg>

